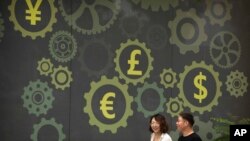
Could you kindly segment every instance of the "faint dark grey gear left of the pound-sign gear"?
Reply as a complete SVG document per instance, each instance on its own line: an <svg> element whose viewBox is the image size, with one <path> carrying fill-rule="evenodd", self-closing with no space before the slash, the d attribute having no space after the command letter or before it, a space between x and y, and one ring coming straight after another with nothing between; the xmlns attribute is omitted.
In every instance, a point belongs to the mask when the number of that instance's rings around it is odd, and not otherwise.
<svg viewBox="0 0 250 141"><path fill-rule="evenodd" d="M92 44L95 44L95 43L98 43L98 44L101 44L105 50L107 50L107 53L108 53L108 58L107 58L107 64L101 69L101 70L92 70L90 69L87 64L85 63L86 60L84 60L84 54L86 53L86 49L88 46L92 45ZM86 71L88 76L100 76L102 74L105 74L105 72L108 71L109 68L112 68L113 67L113 63L112 63L112 58L114 57L114 54L113 52L110 50L111 48L111 45L107 44L104 40L102 39L91 39L88 43L86 43L86 45L84 45L83 48L80 48L80 54L79 54L79 57L78 57L78 61L80 62L80 69L82 71ZM94 63L94 62L93 62Z"/></svg>

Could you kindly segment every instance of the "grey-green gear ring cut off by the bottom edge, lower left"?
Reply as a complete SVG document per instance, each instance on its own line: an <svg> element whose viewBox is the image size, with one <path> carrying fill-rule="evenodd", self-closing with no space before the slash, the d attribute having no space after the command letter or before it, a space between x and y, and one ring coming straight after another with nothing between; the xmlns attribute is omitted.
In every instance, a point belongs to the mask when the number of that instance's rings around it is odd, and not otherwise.
<svg viewBox="0 0 250 141"><path fill-rule="evenodd" d="M30 139L32 141L38 141L38 134L40 129L46 126L53 126L56 128L58 132L58 141L63 141L65 139L66 136L63 133L63 125L57 123L54 118L51 118L49 120L42 118L40 123L33 125L34 132L32 135L30 135Z"/></svg>

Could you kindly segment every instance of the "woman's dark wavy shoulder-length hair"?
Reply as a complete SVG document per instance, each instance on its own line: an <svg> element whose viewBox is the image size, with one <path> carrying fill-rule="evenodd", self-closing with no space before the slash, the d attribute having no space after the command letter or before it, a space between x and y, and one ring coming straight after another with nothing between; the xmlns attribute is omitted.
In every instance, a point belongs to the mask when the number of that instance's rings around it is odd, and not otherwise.
<svg viewBox="0 0 250 141"><path fill-rule="evenodd" d="M155 114L150 117L149 124L151 124L152 119L155 118L155 120L160 124L160 131L161 133L167 133L169 130L168 124L166 122L166 119L163 115L161 114ZM151 128L151 125L149 126L149 131L153 132L153 129Z"/></svg>

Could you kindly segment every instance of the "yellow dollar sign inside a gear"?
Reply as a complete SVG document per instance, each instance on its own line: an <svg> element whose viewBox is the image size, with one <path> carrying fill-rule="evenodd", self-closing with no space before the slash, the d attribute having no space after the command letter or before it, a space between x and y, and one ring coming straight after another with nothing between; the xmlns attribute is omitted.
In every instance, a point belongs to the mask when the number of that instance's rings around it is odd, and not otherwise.
<svg viewBox="0 0 250 141"><path fill-rule="evenodd" d="M202 85L203 80L207 80L207 77L202 72L194 78L194 85L199 89L199 94L194 93L194 98L199 100L199 103L202 103L202 100L207 97L207 89Z"/></svg>

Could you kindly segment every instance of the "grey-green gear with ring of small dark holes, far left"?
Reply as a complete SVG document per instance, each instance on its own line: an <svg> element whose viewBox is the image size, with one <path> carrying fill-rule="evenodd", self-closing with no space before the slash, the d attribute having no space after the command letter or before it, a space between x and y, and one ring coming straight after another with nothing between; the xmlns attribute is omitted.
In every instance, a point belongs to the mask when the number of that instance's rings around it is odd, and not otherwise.
<svg viewBox="0 0 250 141"><path fill-rule="evenodd" d="M52 108L54 97L52 89L47 82L41 82L39 79L34 82L29 82L27 87L24 87L23 107L28 109L29 114L39 116L47 114L47 111ZM38 99L39 98L39 99Z"/></svg>

